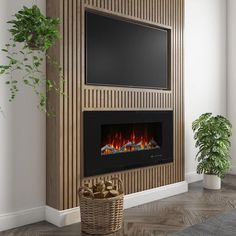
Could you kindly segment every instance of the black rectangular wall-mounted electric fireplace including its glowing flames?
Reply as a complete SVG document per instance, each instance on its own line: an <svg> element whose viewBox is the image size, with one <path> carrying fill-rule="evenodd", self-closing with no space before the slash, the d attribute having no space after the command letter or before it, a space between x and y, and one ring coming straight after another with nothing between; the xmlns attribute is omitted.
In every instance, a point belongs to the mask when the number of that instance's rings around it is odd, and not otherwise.
<svg viewBox="0 0 236 236"><path fill-rule="evenodd" d="M173 111L84 112L84 177L173 161Z"/></svg>

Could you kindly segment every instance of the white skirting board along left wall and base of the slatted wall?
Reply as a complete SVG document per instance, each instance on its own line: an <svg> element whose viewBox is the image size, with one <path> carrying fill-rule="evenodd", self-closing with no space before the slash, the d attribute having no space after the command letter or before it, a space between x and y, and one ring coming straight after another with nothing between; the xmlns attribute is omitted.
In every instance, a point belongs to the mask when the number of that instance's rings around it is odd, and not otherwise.
<svg viewBox="0 0 236 236"><path fill-rule="evenodd" d="M126 195L124 208L142 205L188 191L186 181L149 189L146 191ZM80 208L58 211L49 206L42 206L25 211L18 211L0 215L0 231L46 220L58 227L80 222Z"/></svg>

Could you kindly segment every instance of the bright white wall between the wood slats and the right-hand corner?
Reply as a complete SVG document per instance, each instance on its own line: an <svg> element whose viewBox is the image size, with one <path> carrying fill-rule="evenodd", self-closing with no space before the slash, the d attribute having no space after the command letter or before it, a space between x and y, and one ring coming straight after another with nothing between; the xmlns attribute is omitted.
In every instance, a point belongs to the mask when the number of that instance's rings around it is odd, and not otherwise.
<svg viewBox="0 0 236 236"><path fill-rule="evenodd" d="M185 1L184 50L185 170L191 181L197 152L192 121L205 112L226 114L226 0Z"/></svg>

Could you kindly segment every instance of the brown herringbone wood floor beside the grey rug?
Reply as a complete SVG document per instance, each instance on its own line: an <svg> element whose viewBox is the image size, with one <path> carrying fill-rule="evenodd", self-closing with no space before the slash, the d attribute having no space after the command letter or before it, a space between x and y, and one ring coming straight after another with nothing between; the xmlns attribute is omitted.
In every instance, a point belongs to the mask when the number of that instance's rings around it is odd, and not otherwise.
<svg viewBox="0 0 236 236"><path fill-rule="evenodd" d="M169 235L236 208L236 176L228 175L222 189L204 190L190 184L189 192L125 211L124 227L113 236ZM1 236L80 236L80 224L57 228L47 222L0 233Z"/></svg>

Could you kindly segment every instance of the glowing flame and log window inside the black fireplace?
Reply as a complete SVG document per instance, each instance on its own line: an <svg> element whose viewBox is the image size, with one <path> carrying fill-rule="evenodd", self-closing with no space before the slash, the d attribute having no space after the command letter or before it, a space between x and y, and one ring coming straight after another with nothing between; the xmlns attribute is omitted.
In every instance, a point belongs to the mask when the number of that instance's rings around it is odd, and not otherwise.
<svg viewBox="0 0 236 236"><path fill-rule="evenodd" d="M161 123L110 124L101 126L101 155L160 148ZM160 140L157 143L157 140Z"/></svg>

